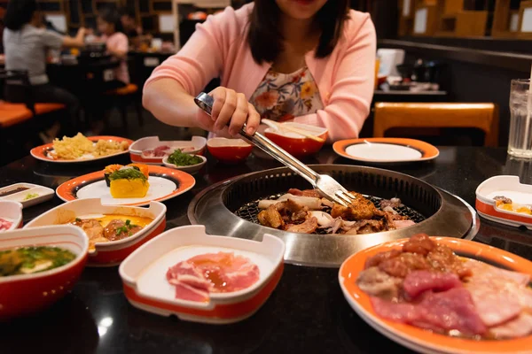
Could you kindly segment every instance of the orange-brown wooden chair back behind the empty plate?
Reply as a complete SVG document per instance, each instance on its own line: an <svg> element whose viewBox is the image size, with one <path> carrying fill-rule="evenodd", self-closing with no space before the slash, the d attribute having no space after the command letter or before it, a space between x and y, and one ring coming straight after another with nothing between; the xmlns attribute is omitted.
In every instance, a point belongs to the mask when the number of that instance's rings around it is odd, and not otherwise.
<svg viewBox="0 0 532 354"><path fill-rule="evenodd" d="M377 103L373 136L384 137L390 128L477 128L484 132L484 146L497 147L497 104Z"/></svg>

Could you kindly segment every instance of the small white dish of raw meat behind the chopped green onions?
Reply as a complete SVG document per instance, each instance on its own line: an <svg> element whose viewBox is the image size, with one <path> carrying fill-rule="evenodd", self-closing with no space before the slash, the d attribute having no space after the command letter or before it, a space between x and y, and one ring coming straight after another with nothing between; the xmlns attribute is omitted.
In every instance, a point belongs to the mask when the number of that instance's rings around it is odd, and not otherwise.
<svg viewBox="0 0 532 354"><path fill-rule="evenodd" d="M190 141L160 141L159 136L146 136L129 146L129 157L133 162L148 165L162 165L162 158L180 149L187 154L202 155L207 139L192 136Z"/></svg>

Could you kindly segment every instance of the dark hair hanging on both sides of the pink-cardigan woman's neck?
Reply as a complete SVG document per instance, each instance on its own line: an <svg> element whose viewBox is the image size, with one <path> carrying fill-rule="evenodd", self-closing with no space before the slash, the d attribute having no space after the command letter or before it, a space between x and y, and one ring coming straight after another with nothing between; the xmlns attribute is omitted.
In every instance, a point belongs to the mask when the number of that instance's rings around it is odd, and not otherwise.
<svg viewBox="0 0 532 354"><path fill-rule="evenodd" d="M332 53L340 39L344 21L348 19L349 0L328 0L316 14L316 24L321 31L316 58L325 58ZM281 10L274 0L255 0L249 17L247 42L254 61L272 62L283 50L283 35L280 32Z"/></svg>

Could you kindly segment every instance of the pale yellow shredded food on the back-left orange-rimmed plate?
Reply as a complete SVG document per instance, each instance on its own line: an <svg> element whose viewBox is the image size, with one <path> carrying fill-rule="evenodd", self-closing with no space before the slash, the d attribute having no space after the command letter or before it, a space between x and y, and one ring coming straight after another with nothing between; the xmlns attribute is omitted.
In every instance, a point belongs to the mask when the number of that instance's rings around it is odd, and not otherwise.
<svg viewBox="0 0 532 354"><path fill-rule="evenodd" d="M63 139L55 139L53 150L48 155L51 158L61 160L99 158L128 150L128 148L129 142L126 141L98 140L98 142L91 142L85 135L78 133L72 138L64 136Z"/></svg>

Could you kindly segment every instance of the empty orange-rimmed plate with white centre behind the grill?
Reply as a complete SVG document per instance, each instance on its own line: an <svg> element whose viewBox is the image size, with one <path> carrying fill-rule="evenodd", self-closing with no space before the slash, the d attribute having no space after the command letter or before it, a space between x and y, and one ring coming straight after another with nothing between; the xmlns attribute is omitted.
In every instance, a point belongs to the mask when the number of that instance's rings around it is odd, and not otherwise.
<svg viewBox="0 0 532 354"><path fill-rule="evenodd" d="M428 142L403 138L340 140L332 144L332 150L342 158L372 164L428 161L440 155L440 150Z"/></svg>

